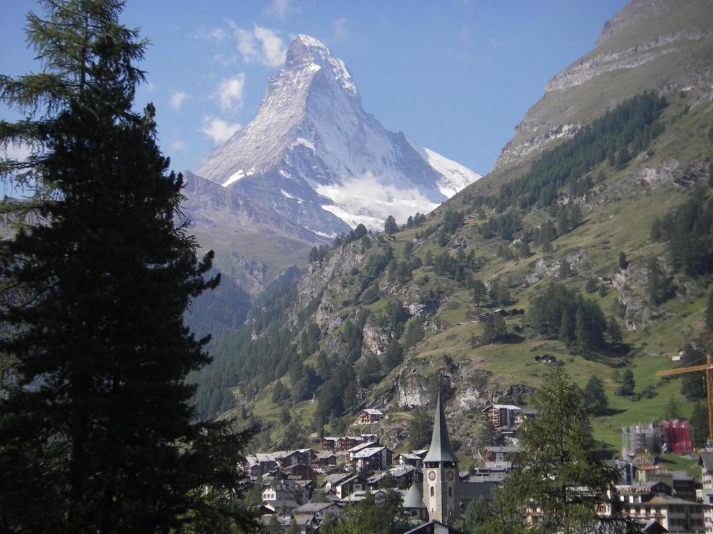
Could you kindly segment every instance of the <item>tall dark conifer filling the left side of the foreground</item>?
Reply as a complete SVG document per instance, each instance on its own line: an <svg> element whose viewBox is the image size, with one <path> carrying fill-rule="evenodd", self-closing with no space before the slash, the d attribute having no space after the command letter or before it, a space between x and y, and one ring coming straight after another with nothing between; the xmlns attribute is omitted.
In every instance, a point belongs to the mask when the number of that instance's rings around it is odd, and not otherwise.
<svg viewBox="0 0 713 534"><path fill-rule="evenodd" d="M153 106L132 110L145 41L121 1L43 5L28 17L43 70L0 78L26 117L0 122L0 144L34 146L0 174L37 189L2 204L16 231L0 241L0 531L251 528L231 500L247 434L193 422L185 377L209 357L183 313L218 279Z"/></svg>

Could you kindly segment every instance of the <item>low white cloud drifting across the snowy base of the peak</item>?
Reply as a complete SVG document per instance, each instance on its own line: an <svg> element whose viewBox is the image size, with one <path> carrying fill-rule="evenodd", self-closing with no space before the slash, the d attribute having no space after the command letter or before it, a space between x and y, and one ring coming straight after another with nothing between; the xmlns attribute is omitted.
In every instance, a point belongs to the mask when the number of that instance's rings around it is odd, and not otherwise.
<svg viewBox="0 0 713 534"><path fill-rule="evenodd" d="M429 213L438 207L418 189L399 189L391 184L382 184L370 172L341 186L319 186L317 193L332 199L349 214L381 220L393 215L399 223L406 222L409 215L417 211Z"/></svg>

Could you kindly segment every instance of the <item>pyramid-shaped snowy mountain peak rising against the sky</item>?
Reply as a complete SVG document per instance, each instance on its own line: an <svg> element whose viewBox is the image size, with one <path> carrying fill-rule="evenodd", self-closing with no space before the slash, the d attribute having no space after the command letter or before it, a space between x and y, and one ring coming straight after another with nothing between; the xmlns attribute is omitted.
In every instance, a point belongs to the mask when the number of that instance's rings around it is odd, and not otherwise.
<svg viewBox="0 0 713 534"><path fill-rule="evenodd" d="M198 170L319 235L426 213L479 174L389 132L361 107L349 69L299 35L250 124ZM299 199L299 202L297 201Z"/></svg>

